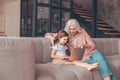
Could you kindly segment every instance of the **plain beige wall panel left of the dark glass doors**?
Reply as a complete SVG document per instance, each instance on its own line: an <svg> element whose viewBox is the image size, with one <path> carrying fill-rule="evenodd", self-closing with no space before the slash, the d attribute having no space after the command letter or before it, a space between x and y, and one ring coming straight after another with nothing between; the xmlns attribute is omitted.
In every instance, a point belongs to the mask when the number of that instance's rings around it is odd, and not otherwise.
<svg viewBox="0 0 120 80"><path fill-rule="evenodd" d="M20 36L20 0L4 5L5 34L7 36Z"/></svg>

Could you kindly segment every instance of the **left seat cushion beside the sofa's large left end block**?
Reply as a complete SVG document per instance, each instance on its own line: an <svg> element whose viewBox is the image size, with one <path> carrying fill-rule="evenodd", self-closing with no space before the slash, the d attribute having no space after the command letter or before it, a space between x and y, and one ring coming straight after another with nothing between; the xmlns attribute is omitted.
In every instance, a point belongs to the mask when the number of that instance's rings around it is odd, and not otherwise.
<svg viewBox="0 0 120 80"><path fill-rule="evenodd" d="M54 64L36 64L36 80L78 80L73 72L65 71L61 67Z"/></svg>

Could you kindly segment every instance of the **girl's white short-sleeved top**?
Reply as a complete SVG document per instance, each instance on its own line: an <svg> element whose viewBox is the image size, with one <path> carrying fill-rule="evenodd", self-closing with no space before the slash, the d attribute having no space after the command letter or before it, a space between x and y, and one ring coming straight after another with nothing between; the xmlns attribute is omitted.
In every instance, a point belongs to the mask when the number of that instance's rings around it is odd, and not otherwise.
<svg viewBox="0 0 120 80"><path fill-rule="evenodd" d="M57 56L66 56L66 50L68 49L67 46L65 45L60 45L60 44L55 44L52 46L54 50L56 50L56 55Z"/></svg>

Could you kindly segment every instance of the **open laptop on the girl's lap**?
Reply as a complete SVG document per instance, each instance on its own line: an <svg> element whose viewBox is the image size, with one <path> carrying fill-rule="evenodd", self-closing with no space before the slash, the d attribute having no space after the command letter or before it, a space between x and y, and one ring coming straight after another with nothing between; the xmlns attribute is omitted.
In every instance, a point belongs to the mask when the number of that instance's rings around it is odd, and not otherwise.
<svg viewBox="0 0 120 80"><path fill-rule="evenodd" d="M84 54L85 48L72 48L70 51L70 61L81 60Z"/></svg>

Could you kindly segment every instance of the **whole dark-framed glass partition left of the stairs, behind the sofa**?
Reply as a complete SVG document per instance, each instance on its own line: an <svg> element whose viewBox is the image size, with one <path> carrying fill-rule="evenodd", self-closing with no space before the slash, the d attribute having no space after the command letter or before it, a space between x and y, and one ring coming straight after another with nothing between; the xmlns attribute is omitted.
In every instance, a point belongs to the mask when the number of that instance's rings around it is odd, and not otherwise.
<svg viewBox="0 0 120 80"><path fill-rule="evenodd" d="M67 4L64 1L67 2ZM21 0L21 36L38 37L64 28L70 18L68 0Z"/></svg>

